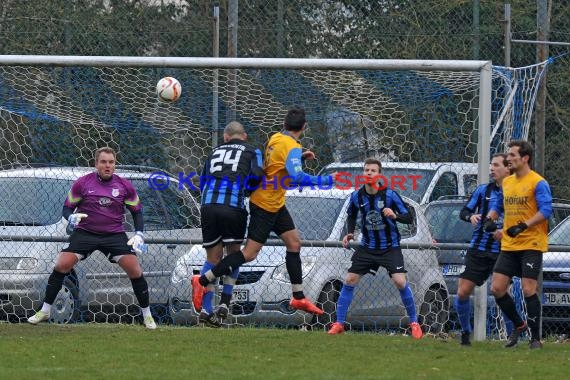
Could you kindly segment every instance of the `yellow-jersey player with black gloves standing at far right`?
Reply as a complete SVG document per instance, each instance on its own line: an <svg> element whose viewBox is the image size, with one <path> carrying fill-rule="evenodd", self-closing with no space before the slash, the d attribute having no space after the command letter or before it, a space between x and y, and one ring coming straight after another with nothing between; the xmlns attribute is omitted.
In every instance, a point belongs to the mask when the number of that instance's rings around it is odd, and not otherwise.
<svg viewBox="0 0 570 380"><path fill-rule="evenodd" d="M533 148L527 141L509 143L507 161L512 175L503 180L502 196L491 199L489 220L485 229L496 229L493 220L504 211L501 253L493 269L491 291L497 305L513 321L515 328L505 347L517 344L522 332L530 328L531 349L542 348L540 341L540 298L538 276L542 270L542 254L548 249L548 218L552 214L550 186L531 169ZM527 321L518 314L508 293L513 276L521 277L527 308Z"/></svg>

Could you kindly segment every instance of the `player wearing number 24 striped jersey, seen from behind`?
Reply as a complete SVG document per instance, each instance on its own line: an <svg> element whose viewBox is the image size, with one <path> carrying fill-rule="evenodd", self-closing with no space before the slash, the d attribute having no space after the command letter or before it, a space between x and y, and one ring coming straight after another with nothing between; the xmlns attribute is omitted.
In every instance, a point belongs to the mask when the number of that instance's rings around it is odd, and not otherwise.
<svg viewBox="0 0 570 380"><path fill-rule="evenodd" d="M248 189L255 188L263 176L261 150L246 143L247 134L243 125L230 122L224 129L224 143L214 148L204 163L200 178L202 190L201 222L203 247L206 261L204 274L218 264L223 256L224 245L228 252L239 251L247 228L247 211L244 200ZM215 284L203 288L192 278L192 288L204 291L199 307L200 321L210 327L219 327L220 320L227 318L233 286L239 275L239 268L224 277L220 304L214 313L213 296Z"/></svg>

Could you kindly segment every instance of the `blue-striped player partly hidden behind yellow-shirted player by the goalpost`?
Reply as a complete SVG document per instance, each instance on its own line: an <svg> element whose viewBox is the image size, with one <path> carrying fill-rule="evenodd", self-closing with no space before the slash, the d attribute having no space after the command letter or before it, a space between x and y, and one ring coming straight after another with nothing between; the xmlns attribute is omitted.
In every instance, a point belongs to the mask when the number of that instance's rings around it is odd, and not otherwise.
<svg viewBox="0 0 570 380"><path fill-rule="evenodd" d="M473 225L473 237L467 255L465 256L465 270L459 275L455 310L461 325L461 344L470 346L471 340L471 302L470 296L475 286L481 286L493 273L493 267L501 251L502 215L497 221L498 230L486 232L483 226L484 218L489 212L489 201L501 194L503 179L510 174L507 155L498 153L491 159L490 167L492 182L479 185L471 195L459 218Z"/></svg>

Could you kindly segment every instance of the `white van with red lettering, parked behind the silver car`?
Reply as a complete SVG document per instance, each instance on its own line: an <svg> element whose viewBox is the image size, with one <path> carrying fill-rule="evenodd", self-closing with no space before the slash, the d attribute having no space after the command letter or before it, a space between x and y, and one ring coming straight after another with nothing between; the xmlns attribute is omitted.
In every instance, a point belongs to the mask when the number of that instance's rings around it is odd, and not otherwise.
<svg viewBox="0 0 570 380"><path fill-rule="evenodd" d="M363 167L363 162L335 162L319 174L343 173L354 186ZM476 163L467 162L382 162L381 174L387 186L423 205L442 196L471 194L477 187L477 171Z"/></svg>

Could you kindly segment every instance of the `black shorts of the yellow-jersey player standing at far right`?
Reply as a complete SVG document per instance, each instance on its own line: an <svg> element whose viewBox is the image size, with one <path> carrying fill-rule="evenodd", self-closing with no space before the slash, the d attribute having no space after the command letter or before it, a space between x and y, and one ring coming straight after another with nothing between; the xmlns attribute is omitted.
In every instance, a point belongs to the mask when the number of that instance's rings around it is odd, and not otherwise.
<svg viewBox="0 0 570 380"><path fill-rule="evenodd" d="M537 280L542 270L542 255L535 250L501 251L493 272Z"/></svg>

